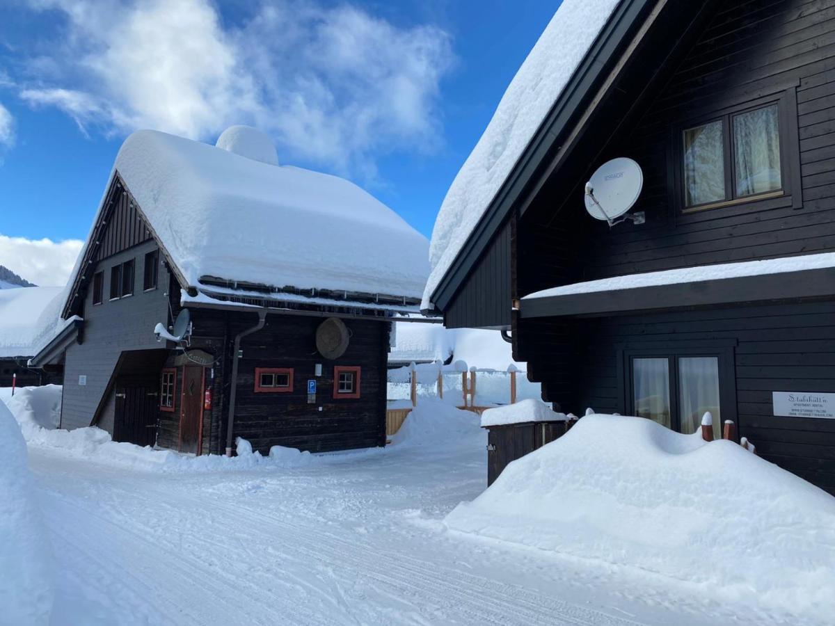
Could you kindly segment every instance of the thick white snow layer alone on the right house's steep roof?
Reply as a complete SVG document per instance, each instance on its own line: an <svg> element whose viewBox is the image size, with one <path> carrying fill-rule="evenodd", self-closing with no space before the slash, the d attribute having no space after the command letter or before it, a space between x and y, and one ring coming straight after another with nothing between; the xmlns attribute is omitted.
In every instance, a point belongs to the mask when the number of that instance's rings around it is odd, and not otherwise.
<svg viewBox="0 0 835 626"><path fill-rule="evenodd" d="M432 233L422 308L609 20L618 0L563 0L453 180Z"/></svg>

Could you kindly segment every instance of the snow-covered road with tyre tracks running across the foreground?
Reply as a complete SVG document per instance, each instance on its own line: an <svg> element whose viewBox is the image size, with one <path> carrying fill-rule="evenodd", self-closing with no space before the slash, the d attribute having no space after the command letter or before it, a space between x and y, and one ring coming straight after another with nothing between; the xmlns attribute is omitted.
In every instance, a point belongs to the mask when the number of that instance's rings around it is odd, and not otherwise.
<svg viewBox="0 0 835 626"><path fill-rule="evenodd" d="M30 447L54 623L768 623L665 579L449 533L483 444L161 473ZM480 445L479 445L480 444Z"/></svg>

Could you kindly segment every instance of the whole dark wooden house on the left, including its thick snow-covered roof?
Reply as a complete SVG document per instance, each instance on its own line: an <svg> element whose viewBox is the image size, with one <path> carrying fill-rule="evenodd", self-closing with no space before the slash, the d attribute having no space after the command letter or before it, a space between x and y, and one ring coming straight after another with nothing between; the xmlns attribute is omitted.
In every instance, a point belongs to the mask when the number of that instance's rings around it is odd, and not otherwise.
<svg viewBox="0 0 835 626"><path fill-rule="evenodd" d="M63 308L78 330L33 360L64 363L61 427L195 454L385 444L390 327L419 309L427 242L243 132L261 152L125 141Z"/></svg>

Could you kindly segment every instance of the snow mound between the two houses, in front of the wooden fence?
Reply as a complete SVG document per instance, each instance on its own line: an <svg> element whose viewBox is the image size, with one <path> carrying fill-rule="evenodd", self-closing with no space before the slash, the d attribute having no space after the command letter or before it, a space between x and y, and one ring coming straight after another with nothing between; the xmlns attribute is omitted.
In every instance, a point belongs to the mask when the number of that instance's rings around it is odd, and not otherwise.
<svg viewBox="0 0 835 626"><path fill-rule="evenodd" d="M483 446L487 443L486 437L476 413L427 399L418 402L391 439L398 446L442 448Z"/></svg>

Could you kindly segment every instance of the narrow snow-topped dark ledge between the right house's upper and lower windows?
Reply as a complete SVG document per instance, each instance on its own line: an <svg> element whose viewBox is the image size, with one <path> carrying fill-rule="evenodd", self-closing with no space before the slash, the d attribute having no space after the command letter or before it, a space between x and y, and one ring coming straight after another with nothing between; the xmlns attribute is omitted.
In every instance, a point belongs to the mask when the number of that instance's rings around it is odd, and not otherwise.
<svg viewBox="0 0 835 626"><path fill-rule="evenodd" d="M522 317L575 316L835 296L835 253L590 280L526 295Z"/></svg>

